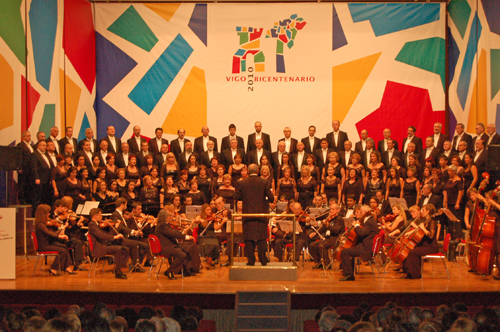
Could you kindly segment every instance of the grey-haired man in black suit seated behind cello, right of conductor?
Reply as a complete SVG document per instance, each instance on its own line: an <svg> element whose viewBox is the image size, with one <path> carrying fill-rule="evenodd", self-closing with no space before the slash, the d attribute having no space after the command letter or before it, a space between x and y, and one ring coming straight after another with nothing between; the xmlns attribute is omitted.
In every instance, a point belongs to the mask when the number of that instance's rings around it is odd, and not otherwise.
<svg viewBox="0 0 500 332"><path fill-rule="evenodd" d="M340 253L342 259L341 269L344 277L340 281L354 280L354 259L360 257L367 261L372 256L373 238L378 234L377 220L369 214L370 207L363 205L355 208L356 222L353 231L356 232L357 244L351 248L345 248Z"/></svg>

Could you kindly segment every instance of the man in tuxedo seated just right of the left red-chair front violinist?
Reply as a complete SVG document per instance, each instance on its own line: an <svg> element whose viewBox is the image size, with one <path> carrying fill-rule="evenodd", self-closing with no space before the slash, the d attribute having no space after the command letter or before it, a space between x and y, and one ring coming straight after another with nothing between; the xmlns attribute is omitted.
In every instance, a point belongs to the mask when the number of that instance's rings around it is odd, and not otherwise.
<svg viewBox="0 0 500 332"><path fill-rule="evenodd" d="M122 245L126 246L130 250L130 257L132 258L132 264L130 268L138 262L139 259L139 249L141 253L145 253L148 250L148 246L142 242L135 240L130 240L129 237L141 237L144 234L139 230L134 230L130 228L129 222L127 222L123 216L123 213L127 209L127 200L120 197L116 200L116 210L111 214L111 221L115 223L115 229L118 233L123 235ZM146 272L140 265L137 265L133 272Z"/></svg>

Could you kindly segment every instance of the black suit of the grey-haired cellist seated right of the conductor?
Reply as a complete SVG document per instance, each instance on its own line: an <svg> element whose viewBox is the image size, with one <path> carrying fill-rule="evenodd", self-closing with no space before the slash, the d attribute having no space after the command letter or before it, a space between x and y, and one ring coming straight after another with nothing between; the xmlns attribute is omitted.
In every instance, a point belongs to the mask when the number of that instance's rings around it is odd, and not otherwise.
<svg viewBox="0 0 500 332"><path fill-rule="evenodd" d="M354 276L354 258L360 257L367 261L372 257L373 238L379 233L377 220L373 217L365 218L363 227L355 227L354 232L358 236L358 244L352 248L341 251L341 267L344 274Z"/></svg>

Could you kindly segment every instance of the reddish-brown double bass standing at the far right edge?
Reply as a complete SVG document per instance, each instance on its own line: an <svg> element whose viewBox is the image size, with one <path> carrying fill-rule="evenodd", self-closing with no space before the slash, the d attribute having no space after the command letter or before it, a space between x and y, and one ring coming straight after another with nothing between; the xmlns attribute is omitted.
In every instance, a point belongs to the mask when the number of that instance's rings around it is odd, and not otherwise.
<svg viewBox="0 0 500 332"><path fill-rule="evenodd" d="M500 187L497 187L491 196L493 199ZM491 204L488 205L488 210L486 211L484 218L481 222L481 228L479 230L478 242L476 247L477 251L477 265L476 272L480 275L486 276L491 273L491 269L493 268L493 260L495 258L492 255L492 250L494 246L493 235L495 233L495 217L489 215L491 209Z"/></svg>

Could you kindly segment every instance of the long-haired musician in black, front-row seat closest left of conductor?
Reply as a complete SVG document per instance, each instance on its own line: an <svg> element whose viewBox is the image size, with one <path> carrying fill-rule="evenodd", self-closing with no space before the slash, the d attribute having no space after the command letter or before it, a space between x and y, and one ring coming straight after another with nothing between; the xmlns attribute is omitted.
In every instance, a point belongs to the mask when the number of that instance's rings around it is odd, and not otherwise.
<svg viewBox="0 0 500 332"><path fill-rule="evenodd" d="M199 256L195 245L191 245L189 251L181 248L178 240L191 240L190 235L182 234L179 230L173 229L174 207L167 203L165 208L158 214L158 225L155 234L160 240L161 255L171 257L170 266L165 271L165 276L170 280L177 279L175 274L183 273L185 277L192 275L188 270L191 257Z"/></svg>

